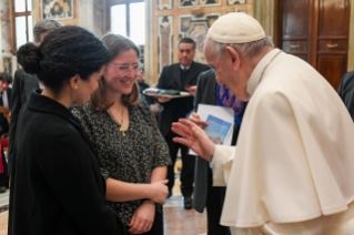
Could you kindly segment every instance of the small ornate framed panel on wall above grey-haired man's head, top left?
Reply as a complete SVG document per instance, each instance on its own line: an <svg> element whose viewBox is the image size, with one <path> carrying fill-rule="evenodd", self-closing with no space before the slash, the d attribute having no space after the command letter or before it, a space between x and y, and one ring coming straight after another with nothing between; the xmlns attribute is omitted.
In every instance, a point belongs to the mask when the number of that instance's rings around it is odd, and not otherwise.
<svg viewBox="0 0 354 235"><path fill-rule="evenodd" d="M64 20L73 18L73 0L41 0L42 19Z"/></svg>

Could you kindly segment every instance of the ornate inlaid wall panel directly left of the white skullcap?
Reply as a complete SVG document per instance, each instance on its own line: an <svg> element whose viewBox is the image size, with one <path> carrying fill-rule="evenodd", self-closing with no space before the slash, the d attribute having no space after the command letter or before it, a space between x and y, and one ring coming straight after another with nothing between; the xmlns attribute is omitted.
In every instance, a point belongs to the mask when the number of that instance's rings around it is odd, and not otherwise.
<svg viewBox="0 0 354 235"><path fill-rule="evenodd" d="M182 14L180 16L180 38L191 38L196 42L194 61L205 63L203 47L208 29L215 22L220 13L203 16Z"/></svg>

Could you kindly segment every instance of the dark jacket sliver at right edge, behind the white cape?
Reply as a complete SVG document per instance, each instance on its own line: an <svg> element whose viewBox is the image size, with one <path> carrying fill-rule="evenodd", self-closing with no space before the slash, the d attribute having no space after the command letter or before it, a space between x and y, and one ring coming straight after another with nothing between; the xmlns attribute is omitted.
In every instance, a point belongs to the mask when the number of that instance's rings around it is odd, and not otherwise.
<svg viewBox="0 0 354 235"><path fill-rule="evenodd" d="M338 89L338 95L354 121L354 71L343 75Z"/></svg>

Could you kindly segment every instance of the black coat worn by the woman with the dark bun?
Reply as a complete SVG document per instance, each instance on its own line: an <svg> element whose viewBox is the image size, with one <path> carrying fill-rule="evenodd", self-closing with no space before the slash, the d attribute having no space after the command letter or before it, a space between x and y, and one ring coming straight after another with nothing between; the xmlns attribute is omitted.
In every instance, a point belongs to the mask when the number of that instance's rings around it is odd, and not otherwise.
<svg viewBox="0 0 354 235"><path fill-rule="evenodd" d="M125 234L105 206L105 182L80 122L32 93L18 120L9 235Z"/></svg>

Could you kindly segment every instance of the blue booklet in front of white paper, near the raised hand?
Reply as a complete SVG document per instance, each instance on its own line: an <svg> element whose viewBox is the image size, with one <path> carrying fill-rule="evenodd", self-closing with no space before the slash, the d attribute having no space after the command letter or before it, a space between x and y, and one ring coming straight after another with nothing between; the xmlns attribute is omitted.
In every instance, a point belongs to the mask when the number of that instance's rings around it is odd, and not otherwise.
<svg viewBox="0 0 354 235"><path fill-rule="evenodd" d="M232 123L225 122L213 115L209 115L206 122L210 123L210 125L204 129L206 135L214 144L223 144Z"/></svg>

